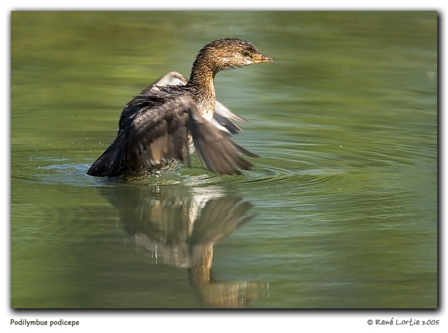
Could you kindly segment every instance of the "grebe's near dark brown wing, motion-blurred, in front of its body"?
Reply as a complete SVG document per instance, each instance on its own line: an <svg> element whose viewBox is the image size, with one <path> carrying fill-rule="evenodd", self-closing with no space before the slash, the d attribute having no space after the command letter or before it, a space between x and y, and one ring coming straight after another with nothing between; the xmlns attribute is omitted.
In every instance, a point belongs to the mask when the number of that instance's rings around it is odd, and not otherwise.
<svg viewBox="0 0 448 333"><path fill-rule="evenodd" d="M194 101L179 96L156 107L144 106L122 124L117 138L92 164L87 174L115 177L151 170L188 158L188 133L200 161L211 171L239 174L251 164L240 153L257 156L204 119Z"/></svg>

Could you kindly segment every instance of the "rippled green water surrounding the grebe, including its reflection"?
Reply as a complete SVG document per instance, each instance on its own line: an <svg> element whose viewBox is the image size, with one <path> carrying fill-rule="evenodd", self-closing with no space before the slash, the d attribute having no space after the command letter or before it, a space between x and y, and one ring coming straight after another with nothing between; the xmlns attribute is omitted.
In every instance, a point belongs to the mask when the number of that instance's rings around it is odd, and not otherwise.
<svg viewBox="0 0 448 333"><path fill-rule="evenodd" d="M216 77L254 168L87 176L224 37L275 60ZM11 307L222 306L437 307L436 12L11 13Z"/></svg>

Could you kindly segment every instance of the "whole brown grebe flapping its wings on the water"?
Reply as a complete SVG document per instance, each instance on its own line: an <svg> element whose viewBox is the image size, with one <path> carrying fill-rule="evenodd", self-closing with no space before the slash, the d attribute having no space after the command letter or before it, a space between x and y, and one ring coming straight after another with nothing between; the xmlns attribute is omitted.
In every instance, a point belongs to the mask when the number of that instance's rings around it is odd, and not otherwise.
<svg viewBox="0 0 448 333"><path fill-rule="evenodd" d="M249 42L226 38L207 44L193 63L190 79L170 72L134 97L123 109L116 139L92 164L88 175L115 177L173 170L196 150L209 170L239 174L256 157L231 140L244 121L216 101L216 73L273 60ZM215 113L215 111L217 111Z"/></svg>

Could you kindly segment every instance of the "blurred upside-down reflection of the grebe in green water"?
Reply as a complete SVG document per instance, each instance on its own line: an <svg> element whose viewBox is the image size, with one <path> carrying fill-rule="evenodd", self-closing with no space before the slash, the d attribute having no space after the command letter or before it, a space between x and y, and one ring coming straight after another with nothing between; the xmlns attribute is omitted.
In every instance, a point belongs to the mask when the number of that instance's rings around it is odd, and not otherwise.
<svg viewBox="0 0 448 333"><path fill-rule="evenodd" d="M190 284L206 306L250 306L264 284L217 281L213 246L252 218L251 204L218 187L124 185L104 195L118 208L126 232L152 253L154 264L187 268Z"/></svg>

